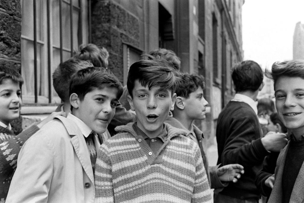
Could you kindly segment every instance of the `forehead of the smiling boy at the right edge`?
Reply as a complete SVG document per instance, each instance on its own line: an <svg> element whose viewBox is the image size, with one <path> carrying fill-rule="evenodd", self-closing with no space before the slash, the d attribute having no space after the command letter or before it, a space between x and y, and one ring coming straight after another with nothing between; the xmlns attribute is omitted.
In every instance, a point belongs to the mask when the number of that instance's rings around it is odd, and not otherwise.
<svg viewBox="0 0 304 203"><path fill-rule="evenodd" d="M275 83L275 91L304 89L304 79L300 77L281 76Z"/></svg>

